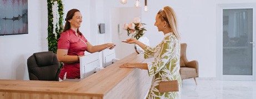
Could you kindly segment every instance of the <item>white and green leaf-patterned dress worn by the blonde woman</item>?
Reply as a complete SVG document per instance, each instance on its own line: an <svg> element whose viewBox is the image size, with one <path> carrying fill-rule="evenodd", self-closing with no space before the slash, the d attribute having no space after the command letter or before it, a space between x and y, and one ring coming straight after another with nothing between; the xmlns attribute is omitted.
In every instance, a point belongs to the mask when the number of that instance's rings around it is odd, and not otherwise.
<svg viewBox="0 0 256 99"><path fill-rule="evenodd" d="M144 58L154 57L153 62L148 63L148 74L153 76L152 84L147 98L180 98L182 79L179 74L180 43L173 33L164 35L164 39L155 48L145 46ZM160 81L178 80L178 92L158 91Z"/></svg>

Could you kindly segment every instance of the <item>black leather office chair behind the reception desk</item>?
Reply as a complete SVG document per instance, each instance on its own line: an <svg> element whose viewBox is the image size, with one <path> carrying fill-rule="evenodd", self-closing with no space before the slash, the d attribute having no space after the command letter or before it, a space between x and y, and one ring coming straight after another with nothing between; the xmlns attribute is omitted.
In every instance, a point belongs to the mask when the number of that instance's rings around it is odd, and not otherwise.
<svg viewBox="0 0 256 99"><path fill-rule="evenodd" d="M52 51L34 53L27 60L29 80L59 81L60 63Z"/></svg>

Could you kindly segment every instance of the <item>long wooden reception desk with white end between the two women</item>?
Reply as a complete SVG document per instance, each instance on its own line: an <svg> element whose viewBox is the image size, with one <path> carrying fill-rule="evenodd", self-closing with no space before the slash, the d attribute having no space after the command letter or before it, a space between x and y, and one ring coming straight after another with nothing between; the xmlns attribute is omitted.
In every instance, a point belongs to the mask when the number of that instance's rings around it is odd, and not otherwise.
<svg viewBox="0 0 256 99"><path fill-rule="evenodd" d="M133 53L78 82L0 80L0 98L144 98L152 81L148 71L119 66L145 61Z"/></svg>

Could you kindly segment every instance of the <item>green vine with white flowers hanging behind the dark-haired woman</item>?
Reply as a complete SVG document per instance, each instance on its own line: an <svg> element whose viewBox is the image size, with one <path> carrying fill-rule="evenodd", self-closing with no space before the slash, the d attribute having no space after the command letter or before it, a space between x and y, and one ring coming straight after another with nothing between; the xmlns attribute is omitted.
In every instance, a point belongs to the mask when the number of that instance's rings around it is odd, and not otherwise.
<svg viewBox="0 0 256 99"><path fill-rule="evenodd" d="M53 11L53 7L56 7L54 3L57 2L58 13ZM48 6L48 50L57 52L57 40L60 37L60 33L63 30L63 4L61 0L47 0ZM57 23L54 23L54 18L57 14ZM55 17L54 17L55 16ZM55 28L56 27L56 28Z"/></svg>

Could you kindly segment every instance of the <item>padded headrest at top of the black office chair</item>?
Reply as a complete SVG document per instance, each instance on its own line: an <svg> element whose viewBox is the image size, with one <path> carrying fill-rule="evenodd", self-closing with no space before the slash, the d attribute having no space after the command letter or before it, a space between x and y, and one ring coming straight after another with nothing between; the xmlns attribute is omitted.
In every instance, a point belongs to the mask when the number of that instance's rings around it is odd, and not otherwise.
<svg viewBox="0 0 256 99"><path fill-rule="evenodd" d="M38 66L47 66L53 64L54 53L52 51L34 53L33 55Z"/></svg>

